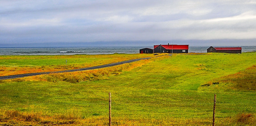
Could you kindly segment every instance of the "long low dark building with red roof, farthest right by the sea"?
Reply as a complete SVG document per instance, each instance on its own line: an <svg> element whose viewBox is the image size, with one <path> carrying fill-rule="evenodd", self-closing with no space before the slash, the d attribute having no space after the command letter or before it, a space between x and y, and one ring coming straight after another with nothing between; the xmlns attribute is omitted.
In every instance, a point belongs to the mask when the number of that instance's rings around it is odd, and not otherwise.
<svg viewBox="0 0 256 126"><path fill-rule="evenodd" d="M242 53L242 47L209 47L207 48L207 53Z"/></svg>

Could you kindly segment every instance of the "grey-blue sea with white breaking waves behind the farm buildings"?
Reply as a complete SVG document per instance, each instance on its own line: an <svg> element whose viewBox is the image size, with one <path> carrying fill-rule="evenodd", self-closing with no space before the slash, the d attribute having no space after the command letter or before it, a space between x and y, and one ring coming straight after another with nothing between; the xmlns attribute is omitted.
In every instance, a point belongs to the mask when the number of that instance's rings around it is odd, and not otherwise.
<svg viewBox="0 0 256 126"><path fill-rule="evenodd" d="M97 54L136 54L142 48L153 47L26 47L0 48L0 55L97 55ZM206 53L209 46L189 46L189 52ZM256 46L242 46L242 52L256 51Z"/></svg>

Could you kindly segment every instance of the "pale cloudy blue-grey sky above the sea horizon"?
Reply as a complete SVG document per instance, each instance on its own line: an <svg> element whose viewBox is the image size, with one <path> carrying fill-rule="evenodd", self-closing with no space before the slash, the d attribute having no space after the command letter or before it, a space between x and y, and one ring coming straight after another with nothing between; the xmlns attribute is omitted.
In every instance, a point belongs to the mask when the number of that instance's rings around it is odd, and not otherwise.
<svg viewBox="0 0 256 126"><path fill-rule="evenodd" d="M256 0L0 0L0 47L256 46Z"/></svg>

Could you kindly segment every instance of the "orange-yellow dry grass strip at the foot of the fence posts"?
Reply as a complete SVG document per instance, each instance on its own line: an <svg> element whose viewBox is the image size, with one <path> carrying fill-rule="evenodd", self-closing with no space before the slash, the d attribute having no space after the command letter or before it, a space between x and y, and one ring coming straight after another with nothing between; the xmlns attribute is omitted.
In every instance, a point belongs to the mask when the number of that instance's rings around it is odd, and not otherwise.
<svg viewBox="0 0 256 126"><path fill-rule="evenodd" d="M222 125L225 122L226 125L252 125L255 122L255 118L252 118L252 114L237 114L236 120L233 118L218 118L215 122L216 125ZM115 126L210 126L212 125L212 119L201 118L166 118L166 119L129 119L112 117L112 125ZM2 110L0 113L0 125L70 125L70 126L106 126L108 125L108 118L104 116L91 116L89 118L82 118L79 113L69 112L61 115L49 116L44 112L19 112L16 110Z"/></svg>

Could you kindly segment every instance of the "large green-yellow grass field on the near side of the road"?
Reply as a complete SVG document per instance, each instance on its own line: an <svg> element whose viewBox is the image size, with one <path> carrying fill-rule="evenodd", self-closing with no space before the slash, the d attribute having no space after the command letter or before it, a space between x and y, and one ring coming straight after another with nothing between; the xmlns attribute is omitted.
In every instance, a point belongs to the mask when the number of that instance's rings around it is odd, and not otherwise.
<svg viewBox="0 0 256 126"><path fill-rule="evenodd" d="M113 125L211 125L214 94L216 125L252 125L255 61L255 52L173 55L99 70L2 80L0 124L107 125L111 92Z"/></svg>

